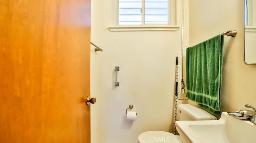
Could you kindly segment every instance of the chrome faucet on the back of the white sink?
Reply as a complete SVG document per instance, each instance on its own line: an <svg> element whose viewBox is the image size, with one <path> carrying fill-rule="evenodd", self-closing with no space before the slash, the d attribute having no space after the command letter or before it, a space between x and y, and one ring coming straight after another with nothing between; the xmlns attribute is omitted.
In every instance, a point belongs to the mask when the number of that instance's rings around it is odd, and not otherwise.
<svg viewBox="0 0 256 143"><path fill-rule="evenodd" d="M239 113L246 117L246 118L250 118L250 122L256 124L256 107L251 106L249 104L245 104L244 105L247 108L252 108L252 110L240 110Z"/></svg>

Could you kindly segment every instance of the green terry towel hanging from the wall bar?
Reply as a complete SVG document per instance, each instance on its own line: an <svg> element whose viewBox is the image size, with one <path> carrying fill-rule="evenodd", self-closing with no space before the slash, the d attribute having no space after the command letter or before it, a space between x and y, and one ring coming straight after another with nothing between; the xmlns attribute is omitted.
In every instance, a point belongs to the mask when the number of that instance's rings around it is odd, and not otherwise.
<svg viewBox="0 0 256 143"><path fill-rule="evenodd" d="M214 115L221 115L223 35L186 49L187 98Z"/></svg>

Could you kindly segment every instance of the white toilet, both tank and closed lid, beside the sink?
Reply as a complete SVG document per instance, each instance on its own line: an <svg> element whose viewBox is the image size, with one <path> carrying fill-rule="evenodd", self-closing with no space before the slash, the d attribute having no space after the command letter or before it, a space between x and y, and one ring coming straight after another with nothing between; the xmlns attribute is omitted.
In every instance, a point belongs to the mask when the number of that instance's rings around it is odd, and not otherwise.
<svg viewBox="0 0 256 143"><path fill-rule="evenodd" d="M177 120L216 120L207 111L191 104L180 104L177 107ZM166 131L146 131L138 136L139 143L185 143L179 135Z"/></svg>

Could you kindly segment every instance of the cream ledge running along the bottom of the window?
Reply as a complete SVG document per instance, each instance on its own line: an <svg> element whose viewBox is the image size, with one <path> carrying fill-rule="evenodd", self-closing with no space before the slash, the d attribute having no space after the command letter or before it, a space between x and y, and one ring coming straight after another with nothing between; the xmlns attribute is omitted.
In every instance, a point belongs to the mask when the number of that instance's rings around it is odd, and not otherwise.
<svg viewBox="0 0 256 143"><path fill-rule="evenodd" d="M180 26L177 25L160 25L160 26L145 26L145 25L136 25L136 26L114 26L108 27L110 31L177 31Z"/></svg>

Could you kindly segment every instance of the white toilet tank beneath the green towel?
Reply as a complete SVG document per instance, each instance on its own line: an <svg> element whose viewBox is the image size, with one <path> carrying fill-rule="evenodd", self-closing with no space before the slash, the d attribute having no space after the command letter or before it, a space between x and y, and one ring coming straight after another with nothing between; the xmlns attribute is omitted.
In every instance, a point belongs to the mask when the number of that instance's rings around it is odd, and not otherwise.
<svg viewBox="0 0 256 143"><path fill-rule="evenodd" d="M203 110L191 104L180 104L177 107L178 120L216 120L217 118Z"/></svg>

